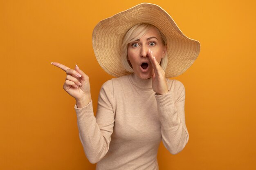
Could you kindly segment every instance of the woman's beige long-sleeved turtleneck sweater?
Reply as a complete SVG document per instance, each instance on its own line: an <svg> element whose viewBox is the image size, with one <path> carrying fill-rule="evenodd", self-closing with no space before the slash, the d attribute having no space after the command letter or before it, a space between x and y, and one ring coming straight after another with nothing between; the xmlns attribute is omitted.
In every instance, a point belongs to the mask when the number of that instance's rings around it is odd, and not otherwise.
<svg viewBox="0 0 256 170"><path fill-rule="evenodd" d="M189 139L185 125L185 90L166 79L169 92L155 95L152 79L127 75L101 87L96 118L92 102L77 108L79 137L97 170L158 170L161 140L172 154Z"/></svg>

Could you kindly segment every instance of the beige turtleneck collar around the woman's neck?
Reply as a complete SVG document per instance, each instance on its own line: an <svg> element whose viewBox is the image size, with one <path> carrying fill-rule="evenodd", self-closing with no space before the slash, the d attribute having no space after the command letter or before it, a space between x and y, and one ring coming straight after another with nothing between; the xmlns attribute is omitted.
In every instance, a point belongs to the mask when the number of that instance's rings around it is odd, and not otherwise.
<svg viewBox="0 0 256 170"><path fill-rule="evenodd" d="M144 90L152 90L152 77L149 79L141 79L133 73L129 75L129 79L132 82L132 84L138 88Z"/></svg>

